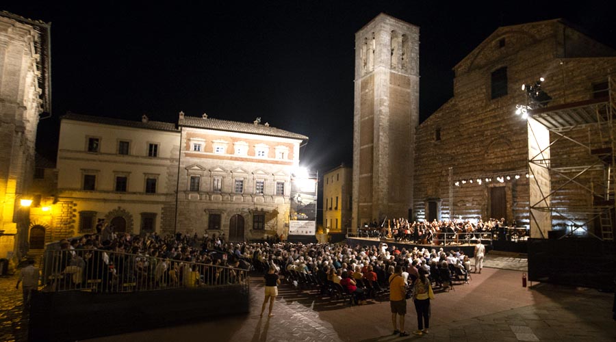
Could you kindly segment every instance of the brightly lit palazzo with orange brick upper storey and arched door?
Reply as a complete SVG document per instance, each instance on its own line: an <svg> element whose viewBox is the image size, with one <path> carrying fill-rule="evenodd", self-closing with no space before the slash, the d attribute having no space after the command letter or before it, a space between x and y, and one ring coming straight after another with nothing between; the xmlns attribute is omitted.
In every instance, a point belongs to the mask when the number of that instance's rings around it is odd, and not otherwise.
<svg viewBox="0 0 616 342"><path fill-rule="evenodd" d="M291 175L305 135L268 123L179 117L177 231L233 241L287 235Z"/></svg>

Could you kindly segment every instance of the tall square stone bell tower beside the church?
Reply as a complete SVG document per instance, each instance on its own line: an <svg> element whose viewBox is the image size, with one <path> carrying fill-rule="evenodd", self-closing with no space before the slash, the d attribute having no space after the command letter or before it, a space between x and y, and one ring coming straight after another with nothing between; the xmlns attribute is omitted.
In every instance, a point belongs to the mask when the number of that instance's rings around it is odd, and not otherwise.
<svg viewBox="0 0 616 342"><path fill-rule="evenodd" d="M419 27L379 14L355 34L352 223L407 218L419 124Z"/></svg>

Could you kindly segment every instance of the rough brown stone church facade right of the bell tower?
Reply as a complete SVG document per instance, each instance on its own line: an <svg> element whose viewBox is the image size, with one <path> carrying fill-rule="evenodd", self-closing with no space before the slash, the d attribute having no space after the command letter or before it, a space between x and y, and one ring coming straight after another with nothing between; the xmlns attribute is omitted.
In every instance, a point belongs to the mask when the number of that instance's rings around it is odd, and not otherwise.
<svg viewBox="0 0 616 342"><path fill-rule="evenodd" d="M428 219L432 206L439 209L441 217L450 213L463 219L504 217L510 224L515 221L517 226L528 226L527 126L514 114L515 105L526 103L520 86L545 77L542 88L553 98L549 106L587 100L593 98L593 86L607 81L616 70L615 55L613 49L559 20L494 31L454 66L453 97L418 127L417 218ZM575 134L589 140L588 131ZM568 140L554 144L550 154L552 163L560 166L572 159L585 163L590 157L587 150ZM465 181L453 185L452 202L450 167L451 183ZM497 181L500 176L510 179ZM551 181L555 188L563 180L552 176ZM591 204L591 198L573 186L550 200L562 205ZM563 222L552 217L552 224Z"/></svg>

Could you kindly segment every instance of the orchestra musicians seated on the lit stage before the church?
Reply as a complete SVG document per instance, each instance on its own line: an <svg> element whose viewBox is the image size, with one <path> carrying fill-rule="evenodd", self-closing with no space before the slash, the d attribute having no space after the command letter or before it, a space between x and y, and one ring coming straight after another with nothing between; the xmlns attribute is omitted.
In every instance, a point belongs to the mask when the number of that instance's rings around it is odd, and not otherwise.
<svg viewBox="0 0 616 342"><path fill-rule="evenodd" d="M358 235L379 239L388 237L400 242L441 246L467 243L480 239L485 233L491 233L491 236L499 239L507 239L506 229L504 218L500 220L490 218L486 221L480 219L477 222L454 219L413 223L404 218L394 218L383 220L381 224L376 220L371 223L366 222L359 228Z"/></svg>

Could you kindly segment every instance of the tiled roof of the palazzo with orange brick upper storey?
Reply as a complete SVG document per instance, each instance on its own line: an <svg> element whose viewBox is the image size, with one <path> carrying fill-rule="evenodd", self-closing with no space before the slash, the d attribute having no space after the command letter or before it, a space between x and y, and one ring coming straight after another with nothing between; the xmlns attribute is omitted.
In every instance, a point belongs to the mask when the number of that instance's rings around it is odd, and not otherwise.
<svg viewBox="0 0 616 342"><path fill-rule="evenodd" d="M308 140L308 137L306 135L285 131L283 129L271 127L266 124L255 124L253 122L238 122L213 118L201 118L195 116L183 116L179 118L178 125L185 127L214 129L216 131L251 133L259 135L270 135L272 137L287 137L290 139Z"/></svg>

